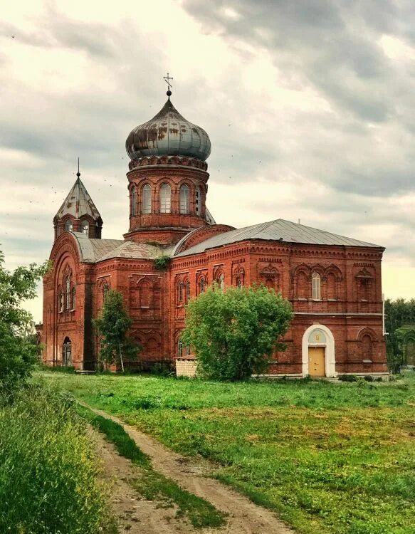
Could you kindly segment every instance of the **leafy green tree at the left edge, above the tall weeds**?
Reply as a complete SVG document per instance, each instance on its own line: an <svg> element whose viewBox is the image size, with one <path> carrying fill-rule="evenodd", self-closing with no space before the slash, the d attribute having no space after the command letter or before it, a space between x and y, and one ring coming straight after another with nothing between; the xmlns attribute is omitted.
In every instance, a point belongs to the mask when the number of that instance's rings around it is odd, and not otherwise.
<svg viewBox="0 0 415 534"><path fill-rule="evenodd" d="M33 338L33 318L23 310L22 300L36 296L36 286L46 274L48 262L32 263L14 272L4 268L0 251L0 388L13 391L31 375L40 347Z"/></svg>

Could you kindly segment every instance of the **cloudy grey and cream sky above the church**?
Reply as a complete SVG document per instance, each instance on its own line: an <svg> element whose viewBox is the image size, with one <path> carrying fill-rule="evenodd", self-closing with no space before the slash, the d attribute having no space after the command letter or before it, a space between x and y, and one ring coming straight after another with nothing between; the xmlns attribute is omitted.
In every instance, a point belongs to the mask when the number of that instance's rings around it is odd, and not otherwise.
<svg viewBox="0 0 415 534"><path fill-rule="evenodd" d="M212 142L216 222L290 219L387 247L415 297L413 0L0 0L0 248L41 262L81 179L128 229L125 139L172 102ZM41 294L41 288L39 288ZM41 319L41 298L28 305Z"/></svg>

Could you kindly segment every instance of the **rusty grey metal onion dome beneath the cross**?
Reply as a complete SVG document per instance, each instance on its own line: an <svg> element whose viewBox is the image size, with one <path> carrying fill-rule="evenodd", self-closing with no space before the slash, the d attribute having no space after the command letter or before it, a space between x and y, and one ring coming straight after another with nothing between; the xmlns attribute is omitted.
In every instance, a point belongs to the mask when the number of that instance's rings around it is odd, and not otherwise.
<svg viewBox="0 0 415 534"><path fill-rule="evenodd" d="M131 159L166 155L204 161L211 153L211 142L204 129L182 117L169 98L155 117L130 132L125 148Z"/></svg>

